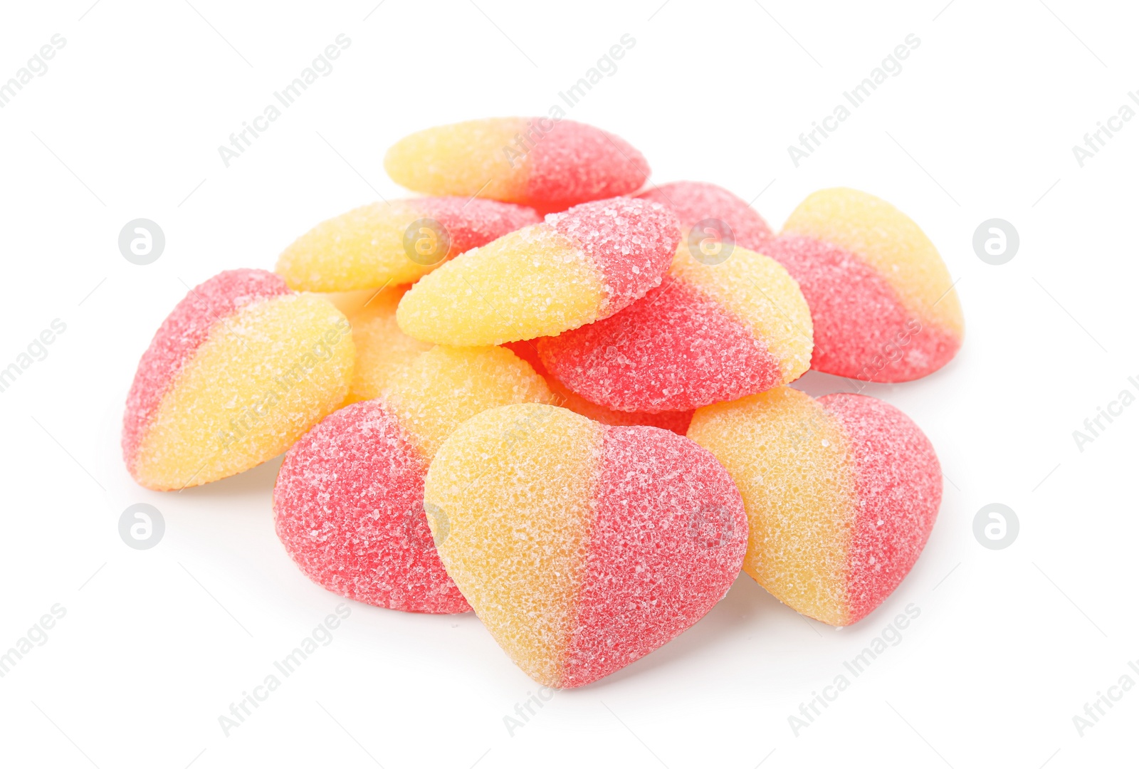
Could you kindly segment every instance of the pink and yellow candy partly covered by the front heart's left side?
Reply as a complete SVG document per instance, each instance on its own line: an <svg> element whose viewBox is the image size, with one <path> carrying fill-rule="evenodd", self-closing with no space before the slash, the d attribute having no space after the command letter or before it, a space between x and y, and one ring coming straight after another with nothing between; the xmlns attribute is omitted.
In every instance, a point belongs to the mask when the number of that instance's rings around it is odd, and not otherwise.
<svg viewBox="0 0 1139 769"><path fill-rule="evenodd" d="M546 402L509 350L436 346L399 366L379 398L341 409L281 466L277 531L318 584L408 612L468 611L435 553L423 490L440 444L484 409Z"/></svg>

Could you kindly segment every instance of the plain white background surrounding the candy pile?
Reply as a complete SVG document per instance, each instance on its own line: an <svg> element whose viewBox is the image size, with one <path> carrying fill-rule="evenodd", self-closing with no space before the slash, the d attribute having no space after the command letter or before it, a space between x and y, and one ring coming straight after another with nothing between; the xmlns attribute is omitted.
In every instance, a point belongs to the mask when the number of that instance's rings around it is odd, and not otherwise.
<svg viewBox="0 0 1139 769"><path fill-rule="evenodd" d="M0 393L0 651L66 608L0 679L0 762L1136 764L1139 688L1082 737L1072 720L1139 660L1139 406L1082 452L1072 436L1139 375L1139 121L1083 167L1072 153L1139 90L1133 6L192 1L6 2L0 18L0 79L52 34L67 41L0 109L0 367L52 319L67 326ZM339 33L352 44L335 71L227 169L218 146ZM513 736L503 717L535 685L475 616L353 605L334 641L224 736L218 717L341 599L273 535L279 461L180 493L131 482L118 430L139 355L187 285L271 269L316 222L400 196L382 158L401 136L544 114L625 33L636 47L568 116L629 140L655 181L759 196L776 228L814 189L865 189L917 220L959 280L957 359L867 390L912 416L941 458L924 555L841 631L740 578L690 631L558 693ZM796 169L787 146L910 33L921 42L901 74ZM116 244L140 216L166 236L148 267ZM1000 267L972 246L994 216L1021 237ZM813 374L801 386L849 388ZM166 522L146 551L117 533L140 501ZM998 551L972 531L994 501L1021 521ZM921 614L903 640L795 736L788 715L910 603Z"/></svg>

